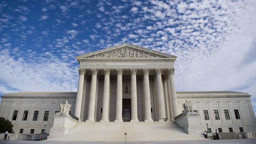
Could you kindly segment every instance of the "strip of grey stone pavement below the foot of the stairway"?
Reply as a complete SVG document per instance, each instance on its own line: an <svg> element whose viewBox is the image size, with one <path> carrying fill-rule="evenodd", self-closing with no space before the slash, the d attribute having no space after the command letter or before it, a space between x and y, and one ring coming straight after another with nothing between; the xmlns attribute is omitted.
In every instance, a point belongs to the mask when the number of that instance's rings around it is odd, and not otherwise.
<svg viewBox="0 0 256 144"><path fill-rule="evenodd" d="M3 141L0 144L70 144L57 141ZM256 139L197 140L197 141L123 141L123 142L72 142L72 144L256 144Z"/></svg>

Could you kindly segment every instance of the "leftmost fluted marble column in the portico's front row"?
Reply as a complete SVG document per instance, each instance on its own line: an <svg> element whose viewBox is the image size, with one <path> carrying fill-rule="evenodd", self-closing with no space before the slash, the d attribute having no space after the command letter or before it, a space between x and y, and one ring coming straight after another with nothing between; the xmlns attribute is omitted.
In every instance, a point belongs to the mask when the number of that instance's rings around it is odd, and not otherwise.
<svg viewBox="0 0 256 144"><path fill-rule="evenodd" d="M75 102L75 116L78 117L80 121L83 87L84 87L84 75L86 71L85 69L79 68L78 72L79 72L79 81L78 81L78 88L77 88L77 95L76 95L76 102Z"/></svg>

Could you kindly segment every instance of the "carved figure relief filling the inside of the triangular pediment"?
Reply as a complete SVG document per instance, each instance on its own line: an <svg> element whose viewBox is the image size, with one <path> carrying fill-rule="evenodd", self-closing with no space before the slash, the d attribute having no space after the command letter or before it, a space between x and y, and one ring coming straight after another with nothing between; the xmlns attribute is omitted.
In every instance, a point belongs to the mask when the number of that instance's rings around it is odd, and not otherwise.
<svg viewBox="0 0 256 144"><path fill-rule="evenodd" d="M96 55L89 56L89 58L150 58L150 57L163 57L154 53L142 51L137 48L129 46L117 48L111 51L99 53Z"/></svg>

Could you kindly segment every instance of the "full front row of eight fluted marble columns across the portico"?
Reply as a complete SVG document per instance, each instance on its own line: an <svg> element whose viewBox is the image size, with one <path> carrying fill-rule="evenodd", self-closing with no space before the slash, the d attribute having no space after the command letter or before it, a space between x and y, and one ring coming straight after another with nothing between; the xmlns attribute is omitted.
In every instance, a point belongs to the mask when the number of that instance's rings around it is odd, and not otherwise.
<svg viewBox="0 0 256 144"><path fill-rule="evenodd" d="M109 121L109 102L110 102L110 69L104 70L104 89L103 89L103 106L102 106L102 118L100 121ZM122 76L123 69L116 69L117 72L117 88L116 88L116 119L115 122L123 122L123 90L122 90ZM96 103L96 85L98 69L91 69L91 90L89 98L88 118L86 121L95 121L95 103ZM137 69L130 69L131 73L131 121L139 121L137 110L137 82L136 74ZM151 116L151 100L150 100L150 84L149 84L150 69L143 69L143 90L144 90L144 109L145 109L145 121L153 121ZM156 73L156 98L157 98L157 113L158 121L165 121L164 110L164 97L162 87L162 69L155 69ZM81 104L83 95L83 84L85 69L79 68L79 83L77 88L77 97L75 105L75 116L79 118L81 115ZM169 107L172 107L173 117L177 116L177 98L174 85L174 68L168 69L167 84L170 89L168 91Z"/></svg>

